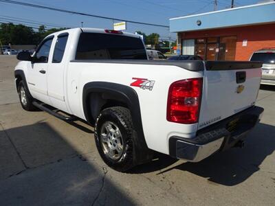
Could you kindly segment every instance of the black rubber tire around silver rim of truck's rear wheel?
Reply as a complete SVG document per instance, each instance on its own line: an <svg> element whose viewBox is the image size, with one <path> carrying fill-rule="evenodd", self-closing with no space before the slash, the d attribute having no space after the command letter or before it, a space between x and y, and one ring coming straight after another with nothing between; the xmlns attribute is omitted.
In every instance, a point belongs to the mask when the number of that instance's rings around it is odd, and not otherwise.
<svg viewBox="0 0 275 206"><path fill-rule="evenodd" d="M122 145L122 155L118 159L111 159L106 152L104 152L104 146L102 145L102 126L106 122L112 122L120 130ZM133 162L133 123L131 114L128 108L121 106L115 106L111 108L105 108L101 111L100 115L96 119L95 126L95 140L98 152L103 161L109 165L110 168L119 172L125 172L135 166ZM108 137L109 138L109 137ZM105 143L106 144L106 143Z"/></svg>

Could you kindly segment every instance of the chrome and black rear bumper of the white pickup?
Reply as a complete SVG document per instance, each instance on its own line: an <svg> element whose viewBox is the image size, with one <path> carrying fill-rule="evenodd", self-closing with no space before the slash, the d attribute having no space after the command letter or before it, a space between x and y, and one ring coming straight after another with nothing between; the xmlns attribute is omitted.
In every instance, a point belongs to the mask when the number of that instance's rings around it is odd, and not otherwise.
<svg viewBox="0 0 275 206"><path fill-rule="evenodd" d="M170 137L169 153L173 157L187 161L201 161L214 152L232 148L261 119L263 108L253 106L216 124L198 130L197 137L188 139Z"/></svg>

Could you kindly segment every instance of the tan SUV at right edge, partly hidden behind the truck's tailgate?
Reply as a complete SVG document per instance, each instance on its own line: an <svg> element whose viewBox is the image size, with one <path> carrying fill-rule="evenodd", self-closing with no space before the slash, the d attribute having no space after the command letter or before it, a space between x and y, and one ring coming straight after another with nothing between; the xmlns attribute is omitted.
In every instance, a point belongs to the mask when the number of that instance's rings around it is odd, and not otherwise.
<svg viewBox="0 0 275 206"><path fill-rule="evenodd" d="M261 84L275 85L275 48L256 51L250 60L263 62Z"/></svg>

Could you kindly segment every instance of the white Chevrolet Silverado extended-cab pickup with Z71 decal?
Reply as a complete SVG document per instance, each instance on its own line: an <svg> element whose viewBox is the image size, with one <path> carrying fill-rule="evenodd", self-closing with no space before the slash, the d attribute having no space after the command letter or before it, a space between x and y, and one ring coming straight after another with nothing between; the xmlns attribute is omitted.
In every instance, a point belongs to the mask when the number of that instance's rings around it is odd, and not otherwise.
<svg viewBox="0 0 275 206"><path fill-rule="evenodd" d="M263 113L261 62L148 60L139 36L91 28L51 34L17 58L22 107L84 119L118 171L150 161L153 150L201 161L241 147Z"/></svg>

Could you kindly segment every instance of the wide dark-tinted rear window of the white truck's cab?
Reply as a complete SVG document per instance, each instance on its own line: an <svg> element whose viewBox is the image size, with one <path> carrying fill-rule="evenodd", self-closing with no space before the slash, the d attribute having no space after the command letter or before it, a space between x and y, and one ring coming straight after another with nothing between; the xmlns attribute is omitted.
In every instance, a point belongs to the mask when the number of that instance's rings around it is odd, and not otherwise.
<svg viewBox="0 0 275 206"><path fill-rule="evenodd" d="M76 60L139 59L147 60L140 38L131 36L81 33L76 49Z"/></svg>

